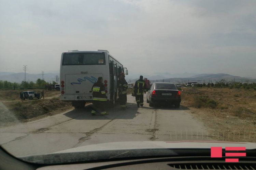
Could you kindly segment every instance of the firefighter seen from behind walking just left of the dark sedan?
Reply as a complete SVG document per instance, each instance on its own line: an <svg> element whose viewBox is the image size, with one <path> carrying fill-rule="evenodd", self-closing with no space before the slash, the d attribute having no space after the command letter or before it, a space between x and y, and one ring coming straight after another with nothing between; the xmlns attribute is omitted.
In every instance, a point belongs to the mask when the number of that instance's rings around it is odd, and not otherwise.
<svg viewBox="0 0 256 170"><path fill-rule="evenodd" d="M135 95L138 107L143 106L143 95L145 91L146 91L146 84L145 84L145 81L143 80L143 76L141 75L140 79L137 80L134 85L134 95Z"/></svg>

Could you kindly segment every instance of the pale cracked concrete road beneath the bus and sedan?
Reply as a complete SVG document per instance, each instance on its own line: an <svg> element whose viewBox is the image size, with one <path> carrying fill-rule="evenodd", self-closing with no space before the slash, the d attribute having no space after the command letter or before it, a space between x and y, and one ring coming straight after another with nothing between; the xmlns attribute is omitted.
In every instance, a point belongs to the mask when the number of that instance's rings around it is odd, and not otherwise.
<svg viewBox="0 0 256 170"><path fill-rule="evenodd" d="M28 123L0 128L0 144L15 156L52 153L78 146L116 141L211 140L207 129L185 107L138 108L127 96L128 108L108 109L91 116L90 105Z"/></svg>

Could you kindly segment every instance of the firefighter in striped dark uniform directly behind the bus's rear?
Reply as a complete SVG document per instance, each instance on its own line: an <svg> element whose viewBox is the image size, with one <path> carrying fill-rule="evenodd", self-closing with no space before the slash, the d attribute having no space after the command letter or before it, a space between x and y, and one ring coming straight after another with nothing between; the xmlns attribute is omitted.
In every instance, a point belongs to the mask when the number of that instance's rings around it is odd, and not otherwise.
<svg viewBox="0 0 256 170"><path fill-rule="evenodd" d="M91 91L93 92L93 105L95 109L91 111L92 115L96 114L96 109L101 115L107 115L105 105L107 101L105 86L102 83L102 77L98 77L98 81L94 83Z"/></svg>

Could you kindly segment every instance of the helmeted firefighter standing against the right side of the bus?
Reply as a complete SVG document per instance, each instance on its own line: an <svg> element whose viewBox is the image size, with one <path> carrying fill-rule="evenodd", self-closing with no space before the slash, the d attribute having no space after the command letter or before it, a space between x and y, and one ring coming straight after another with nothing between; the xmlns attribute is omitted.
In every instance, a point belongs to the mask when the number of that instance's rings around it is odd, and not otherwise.
<svg viewBox="0 0 256 170"><path fill-rule="evenodd" d="M128 83L125 80L125 74L123 72L120 72L119 75L119 81L118 81L118 93L119 93L119 101L120 101L120 108L126 109L126 102L127 102L127 88Z"/></svg>

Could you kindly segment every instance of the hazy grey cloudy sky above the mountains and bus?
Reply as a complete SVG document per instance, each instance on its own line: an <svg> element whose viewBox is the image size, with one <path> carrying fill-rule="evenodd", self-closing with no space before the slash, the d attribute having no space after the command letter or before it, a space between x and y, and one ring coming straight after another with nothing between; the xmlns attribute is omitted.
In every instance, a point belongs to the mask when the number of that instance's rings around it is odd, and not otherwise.
<svg viewBox="0 0 256 170"><path fill-rule="evenodd" d="M0 0L0 71L59 70L107 49L130 73L256 77L256 1Z"/></svg>

